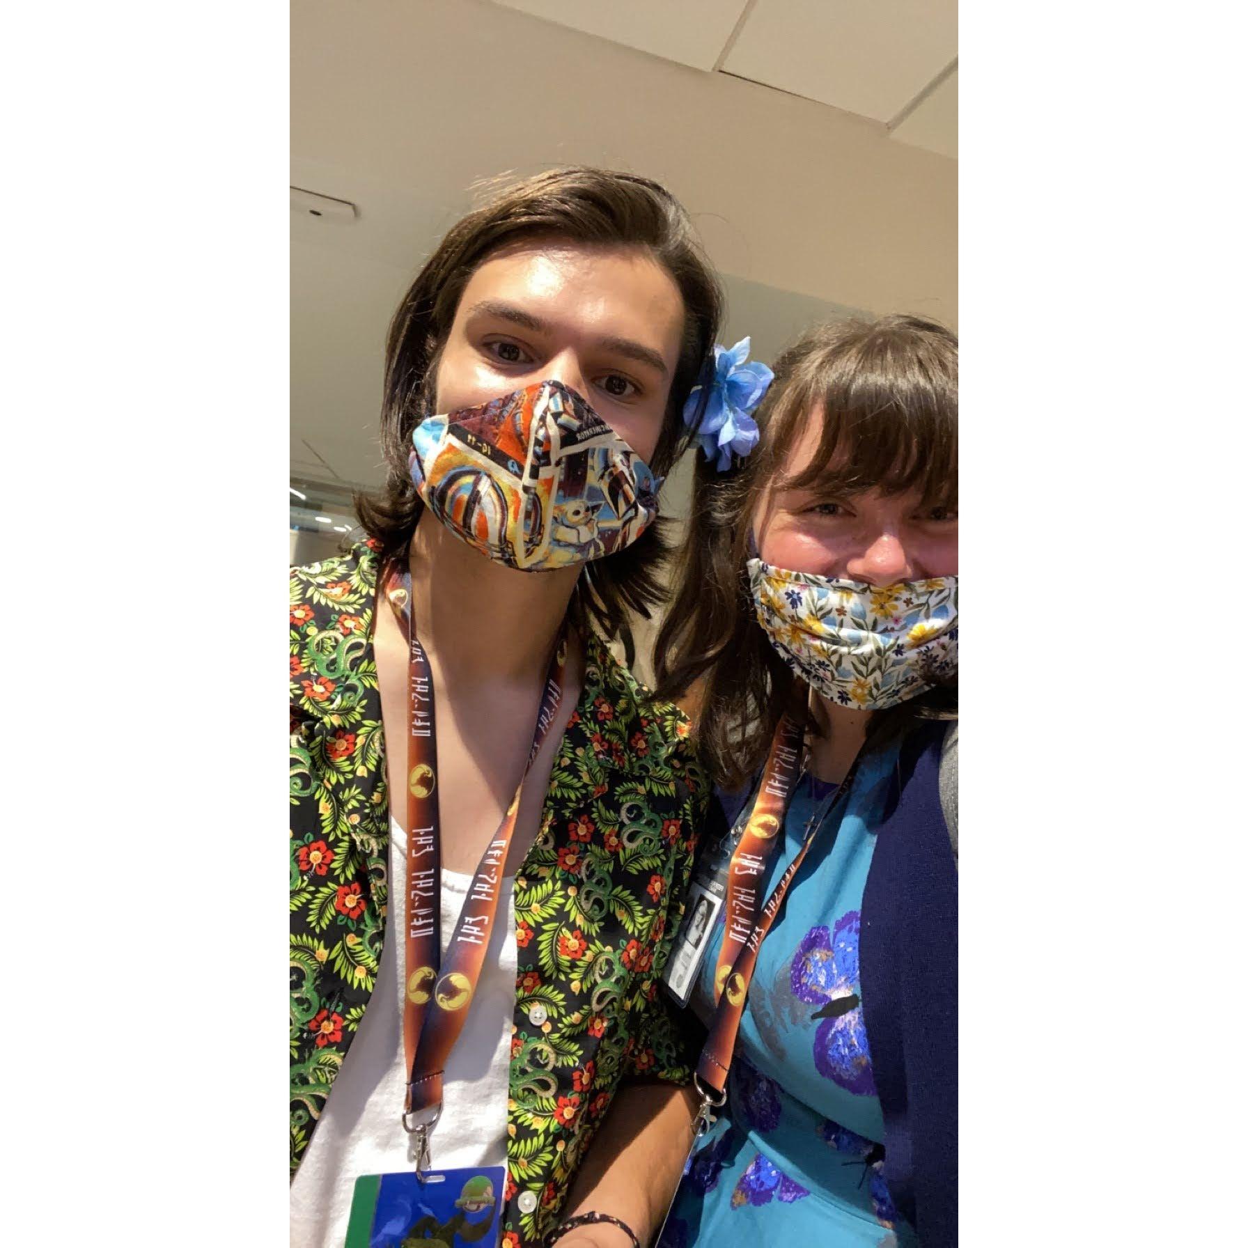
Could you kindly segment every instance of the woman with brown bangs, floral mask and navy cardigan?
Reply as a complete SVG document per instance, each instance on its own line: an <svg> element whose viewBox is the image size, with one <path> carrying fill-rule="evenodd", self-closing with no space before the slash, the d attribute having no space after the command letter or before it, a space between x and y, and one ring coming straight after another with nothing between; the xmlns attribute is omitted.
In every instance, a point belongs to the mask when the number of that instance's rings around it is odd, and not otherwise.
<svg viewBox="0 0 1248 1248"><path fill-rule="evenodd" d="M661 1243L957 1237L957 341L789 349L759 444L699 464L665 696L718 784L670 990L706 1025ZM693 905L686 906L691 914Z"/></svg>

